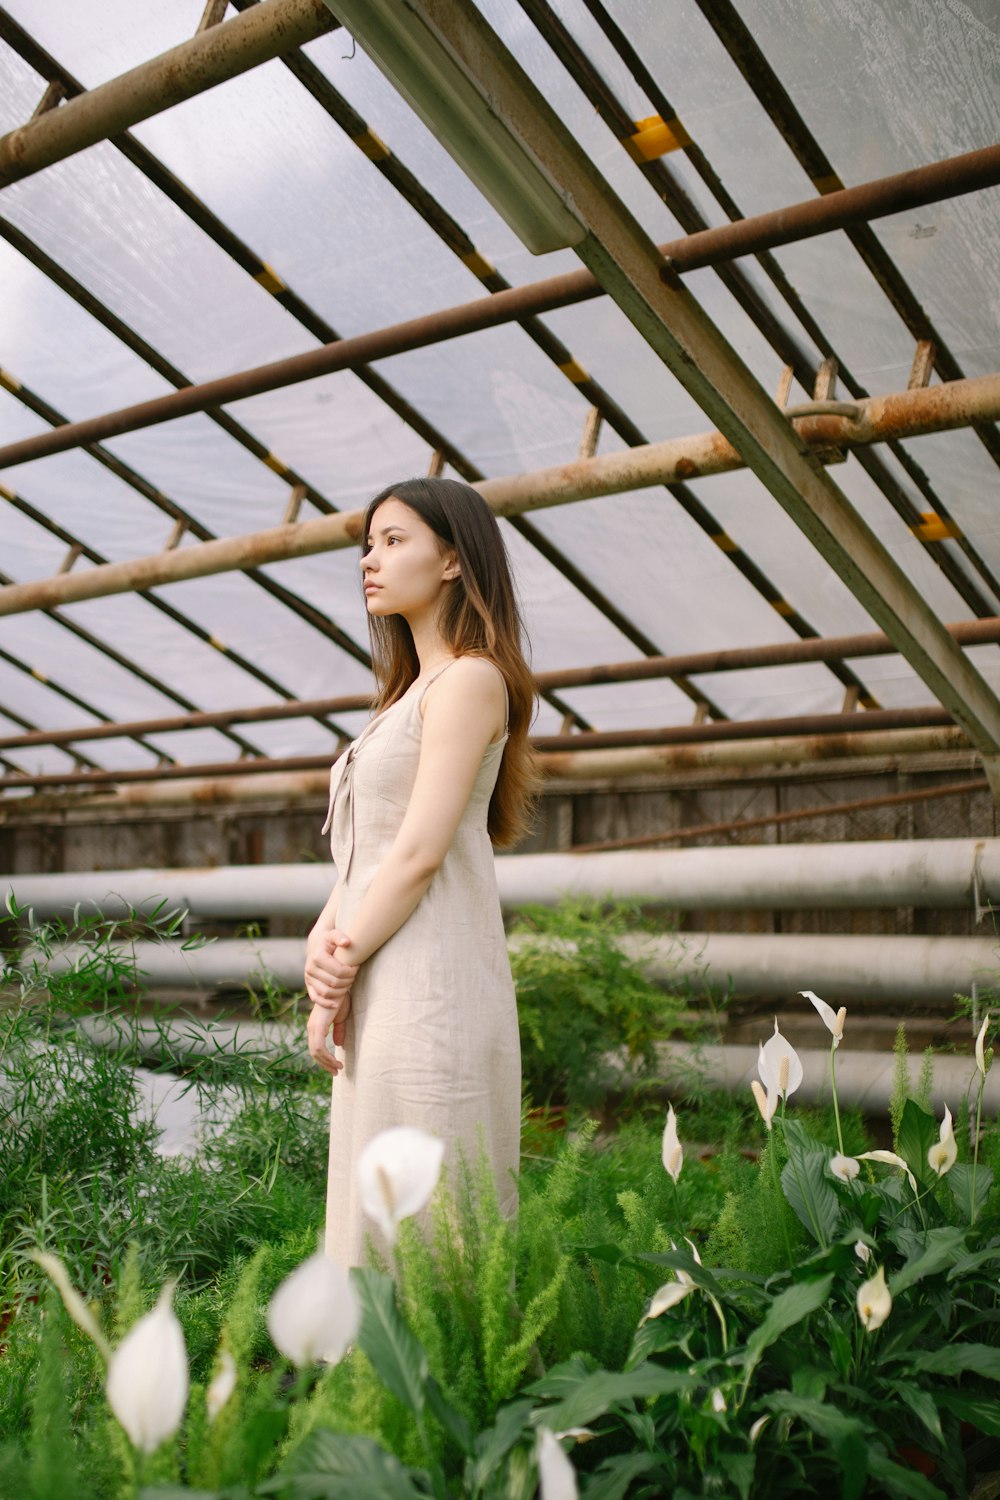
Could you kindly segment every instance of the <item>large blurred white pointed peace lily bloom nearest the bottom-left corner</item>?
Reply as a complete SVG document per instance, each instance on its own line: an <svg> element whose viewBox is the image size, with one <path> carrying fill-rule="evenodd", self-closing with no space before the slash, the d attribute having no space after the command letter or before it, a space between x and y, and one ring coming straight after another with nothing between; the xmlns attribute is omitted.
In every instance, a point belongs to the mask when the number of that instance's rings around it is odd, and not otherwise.
<svg viewBox="0 0 1000 1500"><path fill-rule="evenodd" d="M187 1404L187 1350L168 1281L151 1312L124 1335L108 1365L108 1406L133 1448L153 1454L177 1428Z"/></svg>

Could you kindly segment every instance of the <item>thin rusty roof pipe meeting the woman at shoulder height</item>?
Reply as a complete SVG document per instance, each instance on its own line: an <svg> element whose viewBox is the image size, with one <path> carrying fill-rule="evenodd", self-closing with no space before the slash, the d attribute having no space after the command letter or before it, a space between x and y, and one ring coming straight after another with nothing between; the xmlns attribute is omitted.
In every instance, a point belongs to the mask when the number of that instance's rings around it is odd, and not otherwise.
<svg viewBox="0 0 1000 1500"><path fill-rule="evenodd" d="M1000 642L1000 615L988 620L967 620L945 627L958 645L993 645ZM781 640L763 646L738 646L732 651L693 651L687 656L643 657L636 662L607 662L603 666L565 668L537 672L538 692L567 687L592 687L606 682L640 682L684 675L744 670L747 668L790 666L802 662L840 662L844 657L892 656L895 646L882 632L859 636L828 636L811 640ZM31 746L76 744L85 740L120 740L133 735L168 734L181 729L228 729L231 724L259 724L283 718L316 718L324 714L346 714L369 708L370 693L348 693L340 698L304 698L253 708L222 708L205 712L175 714L162 718L133 718L100 724L76 724L70 729L31 729L0 738L0 750L24 750Z"/></svg>

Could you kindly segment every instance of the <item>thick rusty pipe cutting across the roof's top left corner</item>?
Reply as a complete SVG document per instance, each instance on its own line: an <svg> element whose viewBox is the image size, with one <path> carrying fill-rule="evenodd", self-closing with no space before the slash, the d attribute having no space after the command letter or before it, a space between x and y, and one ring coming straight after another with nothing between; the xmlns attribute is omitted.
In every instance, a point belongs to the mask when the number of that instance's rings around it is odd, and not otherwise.
<svg viewBox="0 0 1000 1500"><path fill-rule="evenodd" d="M312 42L334 26L324 0L265 0L232 21L199 32L1 136L0 188L121 135L139 120Z"/></svg>

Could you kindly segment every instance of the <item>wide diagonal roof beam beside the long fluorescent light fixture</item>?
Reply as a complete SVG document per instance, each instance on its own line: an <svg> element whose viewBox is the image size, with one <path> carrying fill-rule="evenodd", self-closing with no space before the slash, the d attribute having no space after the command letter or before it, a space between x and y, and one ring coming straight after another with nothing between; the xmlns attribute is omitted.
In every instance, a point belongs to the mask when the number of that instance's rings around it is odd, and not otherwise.
<svg viewBox="0 0 1000 1500"><path fill-rule="evenodd" d="M364 45L361 8L342 4L340 18ZM574 206L586 230L576 248L580 260L966 730L1000 792L1000 702L910 579L814 462L480 14L462 0L423 0L421 20L562 201Z"/></svg>

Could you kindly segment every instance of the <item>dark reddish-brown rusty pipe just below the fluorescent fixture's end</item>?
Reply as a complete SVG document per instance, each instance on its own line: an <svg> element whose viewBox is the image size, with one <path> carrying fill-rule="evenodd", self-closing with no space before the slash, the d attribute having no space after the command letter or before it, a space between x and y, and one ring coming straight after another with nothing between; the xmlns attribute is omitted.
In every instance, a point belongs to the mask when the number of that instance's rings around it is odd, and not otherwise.
<svg viewBox="0 0 1000 1500"><path fill-rule="evenodd" d="M246 20L253 14L255 10L247 10L238 20ZM226 27L235 24L237 21L225 22ZM205 33L205 36L211 36L211 33ZM63 108L69 110L72 104L73 100ZM57 111L58 114L63 114L63 110ZM844 188L841 192L832 192L819 200L810 198L772 213L738 219L717 230L702 230L685 238L661 244L660 250L675 270L688 272L771 249L775 244L792 244L796 240L897 213L904 207L921 207L966 192L994 188L997 183L1000 183L1000 146L991 146L910 172L898 172L892 177L862 183L859 188ZM46 453L63 453L67 448L97 442L102 438L120 436L123 432L135 432L139 428L204 411L207 406L279 390L283 386L313 380L318 375L427 348L466 333L478 333L483 328L493 328L534 314L552 312L556 308L567 308L598 296L603 296L603 290L589 272L570 272L564 276L531 282L526 286L493 292L490 297L480 297L475 302L427 314L423 318L412 318L373 333L325 344L306 354L274 360L270 364L258 364L250 370L240 370L214 381L205 381L201 386L172 392L169 396L139 402L84 422L66 423L52 432L10 442L0 448L0 468L24 464Z"/></svg>

